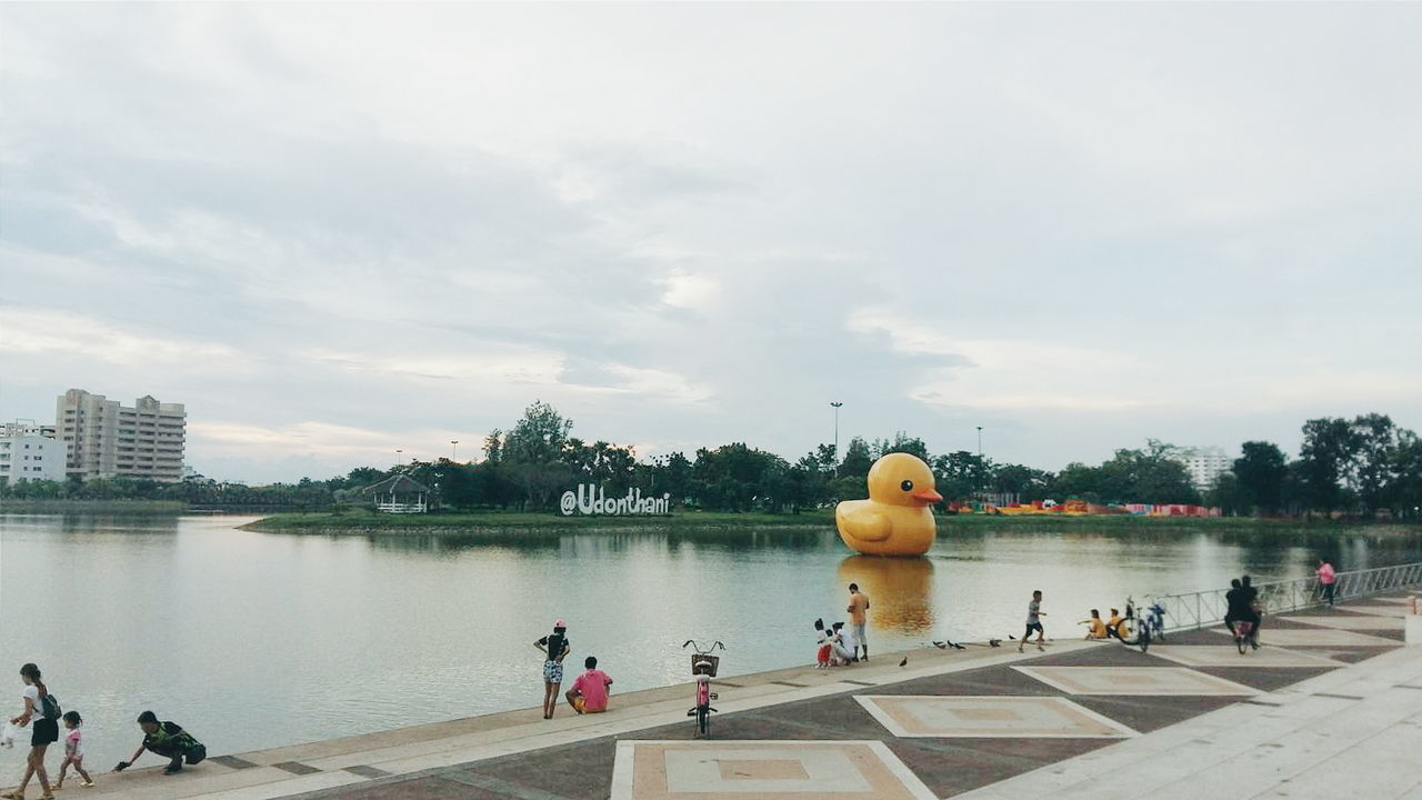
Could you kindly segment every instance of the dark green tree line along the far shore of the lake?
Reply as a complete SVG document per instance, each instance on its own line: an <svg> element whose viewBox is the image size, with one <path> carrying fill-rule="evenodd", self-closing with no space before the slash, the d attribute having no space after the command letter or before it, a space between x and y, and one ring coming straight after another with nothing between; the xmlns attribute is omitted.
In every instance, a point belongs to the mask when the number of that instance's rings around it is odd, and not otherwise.
<svg viewBox="0 0 1422 800"><path fill-rule="evenodd" d="M674 507L714 511L799 512L867 497L869 467L887 453L910 453L934 473L946 502L1015 497L1089 502L1207 504L1226 514L1375 514L1418 518L1422 507L1422 440L1385 414L1354 420L1324 417L1303 427L1304 443L1290 460L1268 441L1247 441L1203 494L1190 484L1183 450L1158 440L1116 450L1098 464L1072 463L1058 473L997 463L977 453L930 454L919 437L855 437L842 454L820 444L795 461L745 443L640 460L631 447L573 436L573 420L535 401L508 431L483 440L476 463L411 461L391 470L360 467L346 475L294 484L185 480L158 484L132 478L23 481L0 485L0 498L181 500L198 507L328 508L361 502L361 490L395 473L431 487L438 505L454 510L545 511L579 483L609 495L629 488L670 494Z"/></svg>

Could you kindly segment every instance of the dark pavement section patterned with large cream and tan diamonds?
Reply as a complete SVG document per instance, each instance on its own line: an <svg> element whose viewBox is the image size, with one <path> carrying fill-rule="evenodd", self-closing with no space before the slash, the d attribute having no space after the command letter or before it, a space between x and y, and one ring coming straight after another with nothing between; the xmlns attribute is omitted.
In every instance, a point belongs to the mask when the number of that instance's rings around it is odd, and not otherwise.
<svg viewBox="0 0 1422 800"><path fill-rule="evenodd" d="M691 739L688 720L293 797L951 797L1395 649L1404 612L1372 599L1270 618L1268 646L1243 656L1213 631L1172 633L1149 655L1116 643L1048 652L720 715L710 740Z"/></svg>

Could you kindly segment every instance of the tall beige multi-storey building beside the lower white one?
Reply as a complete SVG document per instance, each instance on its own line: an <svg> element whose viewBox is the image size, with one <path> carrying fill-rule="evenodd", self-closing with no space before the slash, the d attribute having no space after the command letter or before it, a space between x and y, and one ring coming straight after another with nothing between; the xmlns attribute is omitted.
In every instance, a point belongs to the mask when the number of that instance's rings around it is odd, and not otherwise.
<svg viewBox="0 0 1422 800"><path fill-rule="evenodd" d="M182 403L139 397L129 409L71 389L54 411L54 427L65 446L65 473L181 481L186 417Z"/></svg>

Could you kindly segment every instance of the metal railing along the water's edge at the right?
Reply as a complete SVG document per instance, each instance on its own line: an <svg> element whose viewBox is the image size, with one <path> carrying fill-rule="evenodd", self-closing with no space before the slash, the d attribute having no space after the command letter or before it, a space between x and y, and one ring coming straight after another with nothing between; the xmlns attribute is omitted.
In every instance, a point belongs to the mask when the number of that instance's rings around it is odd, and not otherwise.
<svg viewBox="0 0 1422 800"><path fill-rule="evenodd" d="M1357 599L1419 585L1422 585L1422 562L1379 567L1376 569L1355 569L1351 572L1338 572L1338 582L1334 585L1334 599ZM1254 588L1258 589L1258 601L1263 605L1264 614L1298 611L1322 602L1322 588L1318 584L1318 578L1254 584ZM1226 591L1229 589L1163 595L1155 598L1155 601L1165 608L1166 631L1204 628L1206 625L1224 621L1224 612L1229 611L1229 604L1224 601Z"/></svg>

